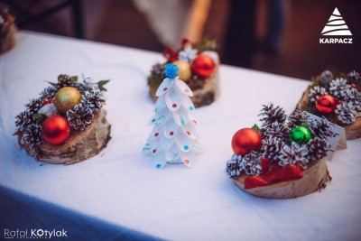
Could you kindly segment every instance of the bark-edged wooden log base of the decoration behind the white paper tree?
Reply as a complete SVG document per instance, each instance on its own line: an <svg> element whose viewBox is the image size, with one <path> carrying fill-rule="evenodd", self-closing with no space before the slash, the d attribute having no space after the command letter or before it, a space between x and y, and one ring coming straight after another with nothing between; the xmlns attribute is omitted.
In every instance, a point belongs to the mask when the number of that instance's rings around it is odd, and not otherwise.
<svg viewBox="0 0 361 241"><path fill-rule="evenodd" d="M193 91L193 97L190 99L193 101L194 107L203 107L212 104L219 96L219 64L213 71L213 73L204 81L206 82L203 88L199 88ZM187 83L187 82L186 82ZM155 101L158 97L155 96L157 88L150 87L149 94Z"/></svg>

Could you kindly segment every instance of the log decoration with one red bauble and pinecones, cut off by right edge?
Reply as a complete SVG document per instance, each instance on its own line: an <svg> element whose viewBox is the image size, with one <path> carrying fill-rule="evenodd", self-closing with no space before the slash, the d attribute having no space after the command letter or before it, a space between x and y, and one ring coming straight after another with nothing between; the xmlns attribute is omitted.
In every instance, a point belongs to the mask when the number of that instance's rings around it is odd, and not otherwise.
<svg viewBox="0 0 361 241"><path fill-rule="evenodd" d="M361 77L355 70L334 76L329 70L312 78L296 109L345 128L347 140L361 137Z"/></svg>

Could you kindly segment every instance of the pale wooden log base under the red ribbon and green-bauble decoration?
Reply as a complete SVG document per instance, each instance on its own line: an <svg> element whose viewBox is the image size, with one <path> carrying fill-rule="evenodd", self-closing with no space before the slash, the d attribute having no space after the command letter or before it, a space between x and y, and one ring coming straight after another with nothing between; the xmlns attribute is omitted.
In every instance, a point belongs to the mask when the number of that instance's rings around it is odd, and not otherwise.
<svg viewBox="0 0 361 241"><path fill-rule="evenodd" d="M312 162L303 171L303 177L299 180L282 181L272 185L257 187L245 190L245 178L243 173L233 179L236 186L249 194L266 199L292 199L310 194L314 191L326 187L326 182L330 180L329 171L325 159L319 162Z"/></svg>

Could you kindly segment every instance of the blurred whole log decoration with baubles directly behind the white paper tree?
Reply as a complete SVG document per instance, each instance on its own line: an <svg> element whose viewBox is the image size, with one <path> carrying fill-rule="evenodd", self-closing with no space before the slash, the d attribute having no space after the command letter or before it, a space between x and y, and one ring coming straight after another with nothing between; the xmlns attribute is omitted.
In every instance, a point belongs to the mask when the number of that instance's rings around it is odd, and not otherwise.
<svg viewBox="0 0 361 241"><path fill-rule="evenodd" d="M179 78L193 91L191 100L194 106L202 107L213 103L219 95L219 58L215 49L216 42L208 39L194 45L183 40L179 51L167 48L163 51L165 63L154 65L148 77L151 97L157 99L156 90L165 78L165 66L173 63L178 67Z"/></svg>

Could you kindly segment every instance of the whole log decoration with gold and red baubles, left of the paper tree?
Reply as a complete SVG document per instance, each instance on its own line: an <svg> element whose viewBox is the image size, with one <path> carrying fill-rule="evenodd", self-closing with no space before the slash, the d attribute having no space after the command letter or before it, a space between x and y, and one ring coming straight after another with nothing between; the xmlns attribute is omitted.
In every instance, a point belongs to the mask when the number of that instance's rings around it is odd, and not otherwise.
<svg viewBox="0 0 361 241"><path fill-rule="evenodd" d="M20 146L37 161L54 164L81 162L100 153L110 139L103 97L108 81L60 75L15 117Z"/></svg>

